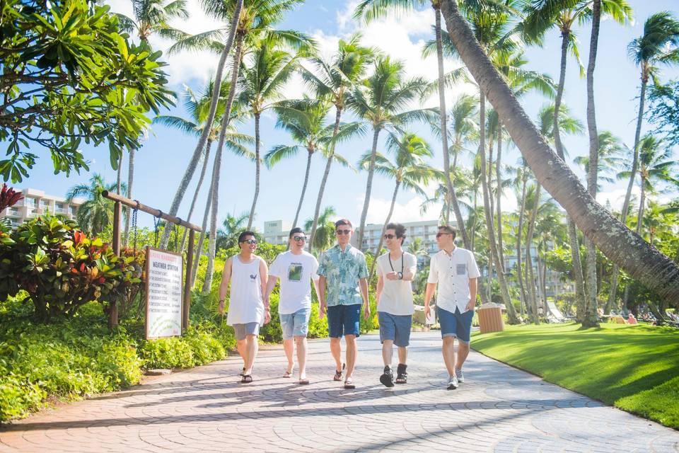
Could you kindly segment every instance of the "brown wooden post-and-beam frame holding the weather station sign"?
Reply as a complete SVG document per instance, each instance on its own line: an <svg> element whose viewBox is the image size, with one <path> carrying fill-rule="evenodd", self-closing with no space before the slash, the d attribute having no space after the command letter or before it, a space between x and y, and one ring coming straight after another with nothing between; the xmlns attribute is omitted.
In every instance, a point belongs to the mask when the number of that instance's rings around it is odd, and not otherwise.
<svg viewBox="0 0 679 453"><path fill-rule="evenodd" d="M109 193L108 190L104 190L102 192L103 197L108 198L109 200L113 200L115 202L115 210L114 210L114 216L113 216L113 251L120 256L120 219L122 215L120 214L122 205L125 205L127 207L131 207L132 209L139 210L142 212L147 212L155 217L160 217L161 219L165 219L170 223L173 223L178 226L185 226L186 228L189 229L189 246L186 252L186 272L185 277L184 277L184 290L183 294L182 293L182 284L181 284L181 275L182 275L182 270L180 268L179 270L179 294L180 294L180 301L183 302L181 304L181 309L180 309L180 314L181 314L181 330L185 331L186 328L189 326L189 313L190 313L190 307L191 307L191 269L193 267L193 243L195 242L195 232L202 231L202 229L199 226L196 226L194 224L190 224L189 222L185 222L184 220L180 219L179 217L172 217L166 213L164 213L161 210L156 210L153 209L153 207L149 207L146 205L142 205L140 202L137 200L130 200L129 198L122 197L121 195L117 195L115 193ZM176 255L176 253L171 253L168 251L164 250L159 250L159 249L151 249L154 251L158 251L159 253L166 253L168 255ZM151 256L153 256L153 253L151 253ZM182 263L181 255L179 255L179 262ZM146 252L146 322L147 322L147 331L146 335L148 338L149 335L149 251ZM160 268L158 268L160 269ZM163 302L166 303L166 302ZM160 307L155 307L156 309ZM169 322L169 321L168 321ZM110 319L109 319L109 325L111 327L115 327L118 325L118 310L117 310L117 304L115 301L111 302L111 312L110 312Z"/></svg>

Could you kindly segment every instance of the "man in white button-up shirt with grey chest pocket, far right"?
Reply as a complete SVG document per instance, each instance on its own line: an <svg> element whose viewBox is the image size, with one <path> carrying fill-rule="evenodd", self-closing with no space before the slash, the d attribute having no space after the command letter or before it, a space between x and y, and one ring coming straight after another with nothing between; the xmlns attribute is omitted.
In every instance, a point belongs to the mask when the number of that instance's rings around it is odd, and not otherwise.
<svg viewBox="0 0 679 453"><path fill-rule="evenodd" d="M464 382L462 365L469 354L472 318L476 304L477 277L481 274L474 254L455 246L455 229L449 225L439 226L436 242L441 251L431 257L429 278L424 293L424 316L429 316L429 302L436 285L436 307L443 338L443 361L448 369L448 390L458 388ZM458 357L455 363L455 337L458 338ZM457 365L457 366L455 366Z"/></svg>

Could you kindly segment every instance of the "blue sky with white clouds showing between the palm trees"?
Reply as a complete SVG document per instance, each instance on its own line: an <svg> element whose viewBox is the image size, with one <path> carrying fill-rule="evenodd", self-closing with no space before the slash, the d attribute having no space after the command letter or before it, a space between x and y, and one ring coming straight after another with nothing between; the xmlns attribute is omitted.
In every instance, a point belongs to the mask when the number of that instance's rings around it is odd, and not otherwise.
<svg viewBox="0 0 679 453"><path fill-rule="evenodd" d="M129 0L110 0L106 3L111 4L114 11L127 12L130 8ZM190 33L216 28L214 22L200 13L197 1L190 0L188 4L192 18L186 23L175 24L178 28ZM428 79L436 77L435 60L430 58L423 62L419 58L422 43L430 39L432 34L430 27L434 15L429 8L408 18L390 17L365 26L356 23L351 18L355 4L356 1L308 0L296 11L289 13L279 28L294 28L312 35L318 40L321 50L326 55L331 55L339 38L347 37L352 32L361 30L367 44L380 47L383 52L394 58L405 60L405 67L409 75L426 76ZM599 131L610 130L631 147L634 142L634 125L638 109L639 70L627 57L627 43L642 34L643 23L651 13L663 10L677 13L679 8L677 8L675 0L632 0L630 4L634 8L633 24L625 27L613 23L613 21L603 21L601 24L595 93ZM579 29L576 33L580 40L581 57L586 64L589 27ZM158 48L167 49L170 43L156 40L154 44ZM559 45L558 32L553 30L547 37L545 47L527 48L528 69L545 72L556 79L559 68ZM184 86L199 90L214 71L216 64L216 57L207 54L166 55L166 57L170 64L168 72L170 73L171 88L178 92L182 92ZM459 65L459 62L446 62L446 70ZM661 78L668 80L678 76L679 71L677 69L663 69ZM295 79L286 89L286 97L299 97L303 91L303 84ZM448 105L451 105L456 94L454 92L448 93ZM533 95L527 96L522 101L524 108L533 118L546 102L545 98ZM574 59L569 59L568 62L564 103L571 108L572 115L586 124L585 79L580 78L579 69L576 67ZM185 115L181 104L178 103L178 105L179 107L173 109L170 113ZM428 105L436 105L436 102L431 102ZM275 118L271 114L262 117L263 152L276 144L291 143L287 134L274 128L274 123ZM429 134L428 128L415 125L412 130L431 140L432 146L437 151L431 164L440 167L442 165L440 144ZM648 130L648 125L644 125L644 131ZM254 134L253 123L246 123L241 131ZM581 137L567 137L564 142L570 154L569 164L573 167L572 159L575 156L587 154L588 139L586 135L583 135ZM355 162L369 146L370 139L365 137L342 146L339 151L349 161ZM149 137L144 141L144 147L137 153L133 197L146 205L158 207L163 211L168 210L194 147L194 138L166 127L154 125L149 132ZM72 185L88 180L91 173L101 173L106 180L115 181L115 171L108 164L108 149L105 147L83 149L83 152L86 158L92 161L91 172L74 173L69 178L66 178L64 174L54 175L49 156L45 152L39 152L40 160L31 172L30 178L18 184L18 187L37 188L52 195L64 195ZM508 164L515 164L518 156L518 150L511 149L505 153L505 161ZM463 159L463 164L468 161L469 159ZM263 229L263 223L266 220L283 219L291 222L301 191L305 165L306 155L300 154L296 158L282 162L272 170L262 168L260 199L254 222L257 229ZM313 215L324 165L325 162L320 159L320 156L314 156L311 180L302 207L301 219L307 219ZM255 171L253 163L229 154L225 154L222 168L219 190L220 222L229 212L240 213L250 209L254 193ZM127 178L127 166L124 166L123 172L125 178ZM579 171L579 174L583 176L581 171ZM195 180L197 180L197 176ZM334 166L326 186L323 206L332 205L337 210L338 215L348 217L355 224L358 224L365 186L366 173L354 173L349 169ZM182 218L185 218L194 188L195 181L182 204L179 213ZM610 200L613 205L621 205L624 191L625 185L623 183L604 185L599 200ZM368 211L368 222L383 222L388 212L392 192L393 183L381 176L375 177L371 208ZM663 199L668 200L671 197L677 197L677 195L676 191L673 194L664 194L663 197L665 198ZM199 208L197 209L197 212L201 214L195 214L192 219L194 223L200 223L199 215L202 215L206 196L207 187L204 187L199 197ZM410 193L401 193L397 200L397 209L393 219L400 222L420 219L419 204L421 202L421 197ZM509 210L515 206L516 200L508 191L504 207ZM424 218L434 218L437 213L438 211L434 207ZM139 224L151 226L152 219L148 215L140 215Z"/></svg>

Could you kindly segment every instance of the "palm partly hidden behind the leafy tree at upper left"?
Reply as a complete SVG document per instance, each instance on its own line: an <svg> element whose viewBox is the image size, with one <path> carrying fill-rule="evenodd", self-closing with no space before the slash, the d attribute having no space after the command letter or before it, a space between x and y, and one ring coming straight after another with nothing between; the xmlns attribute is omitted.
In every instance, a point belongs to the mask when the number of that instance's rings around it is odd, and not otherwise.
<svg viewBox="0 0 679 453"><path fill-rule="evenodd" d="M166 0L132 0L132 11L134 18L124 14L116 14L120 23L120 28L129 33L136 32L141 42L149 42L153 33L157 33L162 38L175 39L181 33L170 26L173 19L189 18L189 11L186 8L186 0L174 0L165 4ZM127 164L127 197L132 197L132 184L134 183L134 154L136 150L129 150L129 161ZM120 159L122 163L122 156ZM120 166L119 163L119 166ZM127 243L129 234L129 215L125 216L125 228L122 236L123 245Z"/></svg>

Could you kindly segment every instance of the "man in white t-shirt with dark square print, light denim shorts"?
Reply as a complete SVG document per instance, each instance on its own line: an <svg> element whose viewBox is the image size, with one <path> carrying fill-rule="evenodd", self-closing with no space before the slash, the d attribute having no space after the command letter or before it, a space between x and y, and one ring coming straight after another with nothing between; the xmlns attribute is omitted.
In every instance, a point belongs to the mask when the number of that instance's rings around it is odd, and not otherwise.
<svg viewBox="0 0 679 453"><path fill-rule="evenodd" d="M269 282L265 301L269 304L269 296L281 280L278 314L283 331L283 348L288 359L288 367L283 377L292 377L294 368L293 352L297 343L297 362L299 365L299 383L308 384L306 378L306 334L309 330L309 316L311 316L311 285L318 294L318 261L307 251L304 251L306 234L301 228L290 230L290 250L280 253L269 268Z"/></svg>

